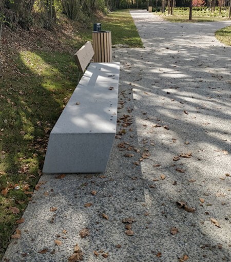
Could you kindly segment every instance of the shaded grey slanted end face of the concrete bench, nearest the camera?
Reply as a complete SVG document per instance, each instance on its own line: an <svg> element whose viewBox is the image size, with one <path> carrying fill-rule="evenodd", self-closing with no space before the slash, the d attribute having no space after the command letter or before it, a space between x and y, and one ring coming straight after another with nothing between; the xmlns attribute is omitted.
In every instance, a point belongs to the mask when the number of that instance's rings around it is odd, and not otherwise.
<svg viewBox="0 0 231 262"><path fill-rule="evenodd" d="M43 172L103 173L114 134L51 134Z"/></svg>

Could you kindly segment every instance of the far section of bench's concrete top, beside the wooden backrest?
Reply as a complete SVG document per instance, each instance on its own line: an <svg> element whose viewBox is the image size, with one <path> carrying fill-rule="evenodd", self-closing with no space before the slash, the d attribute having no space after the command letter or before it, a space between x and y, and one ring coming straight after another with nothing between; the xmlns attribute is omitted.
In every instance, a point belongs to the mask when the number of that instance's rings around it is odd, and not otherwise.
<svg viewBox="0 0 231 262"><path fill-rule="evenodd" d="M120 63L91 63L79 84L118 84Z"/></svg>

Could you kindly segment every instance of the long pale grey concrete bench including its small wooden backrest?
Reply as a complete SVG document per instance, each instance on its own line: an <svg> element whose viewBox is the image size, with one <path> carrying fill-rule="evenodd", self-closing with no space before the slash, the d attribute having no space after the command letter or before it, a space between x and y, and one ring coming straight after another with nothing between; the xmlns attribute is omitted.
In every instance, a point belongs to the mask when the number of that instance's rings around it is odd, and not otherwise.
<svg viewBox="0 0 231 262"><path fill-rule="evenodd" d="M84 71L93 56L90 42L76 54ZM53 127L43 172L103 173L117 126L120 63L90 63Z"/></svg>

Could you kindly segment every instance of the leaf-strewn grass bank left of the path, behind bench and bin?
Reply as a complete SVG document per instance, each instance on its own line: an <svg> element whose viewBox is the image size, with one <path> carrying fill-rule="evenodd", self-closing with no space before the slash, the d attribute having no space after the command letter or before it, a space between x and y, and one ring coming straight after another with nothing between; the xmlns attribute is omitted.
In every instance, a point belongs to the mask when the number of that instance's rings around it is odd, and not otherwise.
<svg viewBox="0 0 231 262"><path fill-rule="evenodd" d="M112 44L142 46L127 11L111 13L97 22L102 23L104 30L112 31ZM42 174L50 130L77 84L73 53L91 40L92 21L85 27L65 19L60 23L52 31L4 28L0 78L0 259Z"/></svg>

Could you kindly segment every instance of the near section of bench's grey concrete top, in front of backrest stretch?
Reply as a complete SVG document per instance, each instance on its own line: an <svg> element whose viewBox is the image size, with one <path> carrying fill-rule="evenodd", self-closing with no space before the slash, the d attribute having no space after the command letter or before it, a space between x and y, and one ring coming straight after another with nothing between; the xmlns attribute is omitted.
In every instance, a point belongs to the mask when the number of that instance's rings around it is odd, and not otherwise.
<svg viewBox="0 0 231 262"><path fill-rule="evenodd" d="M118 86L79 84L51 133L115 133Z"/></svg>

